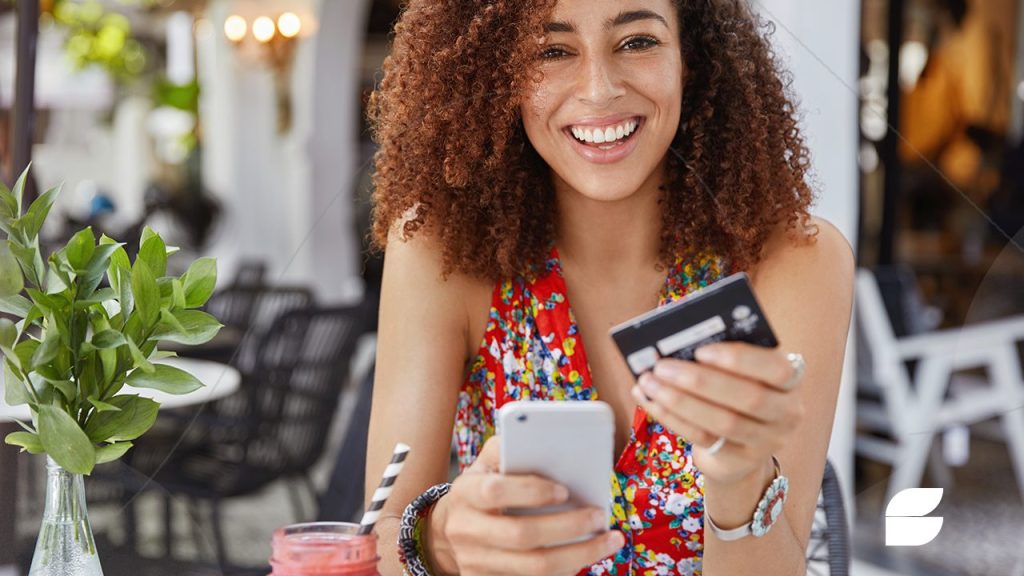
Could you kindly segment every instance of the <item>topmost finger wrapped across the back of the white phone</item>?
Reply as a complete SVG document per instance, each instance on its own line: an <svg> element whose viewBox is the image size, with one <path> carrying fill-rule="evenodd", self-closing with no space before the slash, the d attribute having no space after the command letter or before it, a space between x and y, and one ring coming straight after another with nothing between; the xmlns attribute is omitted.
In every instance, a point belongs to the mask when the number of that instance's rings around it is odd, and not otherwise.
<svg viewBox="0 0 1024 576"><path fill-rule="evenodd" d="M465 483L470 504L480 510L551 506L569 497L567 488L536 475L480 474Z"/></svg>

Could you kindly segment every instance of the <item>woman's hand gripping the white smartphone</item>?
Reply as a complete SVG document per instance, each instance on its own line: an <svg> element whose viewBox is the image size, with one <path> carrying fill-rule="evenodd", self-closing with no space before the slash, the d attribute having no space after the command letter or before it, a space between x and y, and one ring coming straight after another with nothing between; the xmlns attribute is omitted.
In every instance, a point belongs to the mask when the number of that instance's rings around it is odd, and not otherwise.
<svg viewBox="0 0 1024 576"><path fill-rule="evenodd" d="M427 562L441 574L577 574L625 544L617 530L604 532L606 512L578 508L539 516L503 516L505 508L534 508L564 502L568 491L539 476L498 472L498 438L483 445L476 461L433 507L424 540ZM582 542L545 547L588 535Z"/></svg>

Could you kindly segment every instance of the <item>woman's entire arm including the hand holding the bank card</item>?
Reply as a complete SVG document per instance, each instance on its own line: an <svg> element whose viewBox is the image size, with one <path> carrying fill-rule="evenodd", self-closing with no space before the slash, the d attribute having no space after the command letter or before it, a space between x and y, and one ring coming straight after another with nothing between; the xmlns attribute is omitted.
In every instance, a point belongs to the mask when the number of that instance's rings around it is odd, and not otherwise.
<svg viewBox="0 0 1024 576"><path fill-rule="evenodd" d="M751 521L774 476L772 455L790 479L783 513L763 537L723 541L706 522L708 576L790 576L805 570L853 292L849 245L830 224L818 225L812 244L794 245L785 234L777 234L752 271L758 299L779 340L777 348L742 342L703 346L697 362L659 361L634 390L651 416L693 442L705 482L705 515L719 527L728 530ZM799 352L807 363L795 385L788 352ZM719 437L727 442L711 453L708 447Z"/></svg>

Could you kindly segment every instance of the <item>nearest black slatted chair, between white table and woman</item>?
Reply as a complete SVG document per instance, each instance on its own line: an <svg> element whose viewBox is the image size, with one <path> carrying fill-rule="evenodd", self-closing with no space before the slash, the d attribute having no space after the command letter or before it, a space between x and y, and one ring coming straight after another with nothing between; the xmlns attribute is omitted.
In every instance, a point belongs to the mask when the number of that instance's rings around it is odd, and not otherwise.
<svg viewBox="0 0 1024 576"><path fill-rule="evenodd" d="M200 414L185 447L154 469L165 491L165 538L173 548L170 501L184 497L211 505L218 563L227 566L220 503L252 494L279 480L298 480L315 501L309 469L324 452L348 379L349 364L361 333L360 306L306 307L286 312L260 336L240 390ZM137 470L146 470L152 452L138 451ZM166 456L166 453L164 454ZM144 460L150 460L148 462ZM302 517L301 500L290 485L292 504Z"/></svg>

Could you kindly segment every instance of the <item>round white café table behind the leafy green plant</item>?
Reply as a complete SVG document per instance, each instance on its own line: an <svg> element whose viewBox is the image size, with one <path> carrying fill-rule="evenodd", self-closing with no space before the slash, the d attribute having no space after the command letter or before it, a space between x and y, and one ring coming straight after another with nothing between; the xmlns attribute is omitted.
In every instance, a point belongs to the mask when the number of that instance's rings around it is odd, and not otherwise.
<svg viewBox="0 0 1024 576"><path fill-rule="evenodd" d="M239 389L242 375L231 366L191 358L168 358L158 361L180 368L196 376L203 387L185 395L172 395L152 388L125 386L122 394L138 394L160 403L162 409L183 408L224 398ZM4 402L3 371L0 370L0 439L8 433L22 429L15 420L32 421L27 405L8 406ZM16 549L15 504L17 498L17 450L15 446L0 444L0 576L16 576L14 566Z"/></svg>

